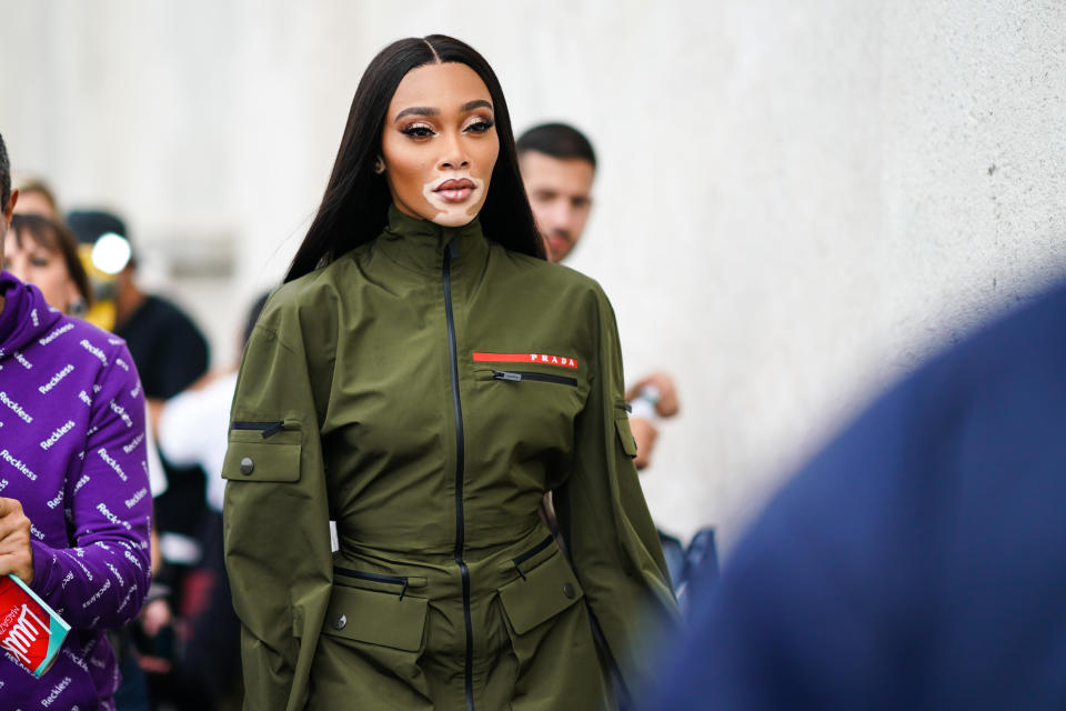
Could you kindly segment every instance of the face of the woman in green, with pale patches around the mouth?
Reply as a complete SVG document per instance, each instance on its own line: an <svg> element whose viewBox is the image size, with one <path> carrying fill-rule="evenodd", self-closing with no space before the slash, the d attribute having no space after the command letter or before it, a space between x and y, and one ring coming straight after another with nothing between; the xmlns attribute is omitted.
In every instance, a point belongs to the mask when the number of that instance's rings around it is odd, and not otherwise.
<svg viewBox="0 0 1066 711"><path fill-rule="evenodd" d="M408 72L381 140L389 192L401 212L444 227L477 216L500 153L493 108L485 82L466 64Z"/></svg>

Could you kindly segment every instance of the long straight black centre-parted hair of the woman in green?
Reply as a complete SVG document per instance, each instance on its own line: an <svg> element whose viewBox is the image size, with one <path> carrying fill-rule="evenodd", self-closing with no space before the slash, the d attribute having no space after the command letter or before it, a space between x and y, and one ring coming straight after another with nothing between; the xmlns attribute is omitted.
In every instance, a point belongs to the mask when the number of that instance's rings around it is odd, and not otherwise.
<svg viewBox="0 0 1066 711"><path fill-rule="evenodd" d="M322 204L292 259L285 281L369 242L384 229L392 197L384 177L374 172L374 161L381 154L389 103L409 71L436 62L466 64L485 82L492 98L500 154L479 216L485 237L510 250L544 258L544 243L519 174L507 102L496 74L469 44L444 34L430 34L393 42L374 57L363 73Z"/></svg>

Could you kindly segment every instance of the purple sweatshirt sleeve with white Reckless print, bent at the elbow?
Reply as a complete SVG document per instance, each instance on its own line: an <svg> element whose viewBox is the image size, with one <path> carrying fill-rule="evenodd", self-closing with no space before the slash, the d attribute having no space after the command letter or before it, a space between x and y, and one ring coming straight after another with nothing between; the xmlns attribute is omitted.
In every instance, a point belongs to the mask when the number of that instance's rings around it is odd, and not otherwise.
<svg viewBox="0 0 1066 711"><path fill-rule="evenodd" d="M80 630L132 620L151 577L144 399L125 348L109 349L107 358L92 394L86 451L69 465L63 490L73 545L31 540L31 587Z"/></svg>

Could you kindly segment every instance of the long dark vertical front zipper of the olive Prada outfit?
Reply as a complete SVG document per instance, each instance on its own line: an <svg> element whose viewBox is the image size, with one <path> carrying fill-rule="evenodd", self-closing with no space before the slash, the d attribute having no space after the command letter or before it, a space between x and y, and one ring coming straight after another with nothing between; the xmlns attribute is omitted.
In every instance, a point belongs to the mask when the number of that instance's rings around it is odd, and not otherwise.
<svg viewBox="0 0 1066 711"><path fill-rule="evenodd" d="M452 314L452 259L457 257L453 239L444 250L444 316L447 320L447 351L452 364L452 405L455 415L455 563L463 580L463 622L466 630L466 655L463 678L466 688L466 711L474 711L474 639L470 614L470 569L463 561L466 530L463 523L463 407L459 399L459 353L455 344L455 318Z"/></svg>

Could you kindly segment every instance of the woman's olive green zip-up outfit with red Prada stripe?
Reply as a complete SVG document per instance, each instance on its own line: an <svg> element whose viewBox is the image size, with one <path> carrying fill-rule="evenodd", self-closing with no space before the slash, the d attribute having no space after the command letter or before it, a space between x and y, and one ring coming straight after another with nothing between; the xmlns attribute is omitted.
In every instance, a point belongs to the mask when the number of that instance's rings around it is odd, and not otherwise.
<svg viewBox="0 0 1066 711"><path fill-rule="evenodd" d="M643 683L675 607L622 382L599 286L476 220L392 208L279 289L223 468L245 709L593 710L611 669Z"/></svg>

